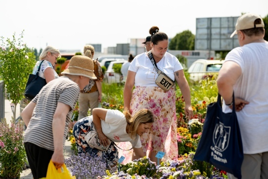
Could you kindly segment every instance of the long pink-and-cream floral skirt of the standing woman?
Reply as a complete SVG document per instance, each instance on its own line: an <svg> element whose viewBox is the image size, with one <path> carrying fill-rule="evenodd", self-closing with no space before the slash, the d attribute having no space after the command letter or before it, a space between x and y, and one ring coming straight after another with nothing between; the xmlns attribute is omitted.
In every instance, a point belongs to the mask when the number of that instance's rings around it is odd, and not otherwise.
<svg viewBox="0 0 268 179"><path fill-rule="evenodd" d="M148 133L144 133L140 139L144 153L152 151L165 152L163 160L178 158L177 144L177 124L176 124L176 106L175 91L171 88L165 92L160 87L136 87L133 90L130 103L131 114L134 115L138 110L146 108L153 113L153 127ZM131 148L129 142L120 142L122 149ZM126 159L122 162L128 163L132 159L133 150L119 150L119 157Z"/></svg>

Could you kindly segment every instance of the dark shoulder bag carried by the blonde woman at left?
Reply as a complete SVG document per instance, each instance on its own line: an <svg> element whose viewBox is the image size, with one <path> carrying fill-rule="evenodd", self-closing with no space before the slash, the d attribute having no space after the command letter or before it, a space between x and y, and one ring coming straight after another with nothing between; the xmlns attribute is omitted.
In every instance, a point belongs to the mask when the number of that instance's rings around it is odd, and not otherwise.
<svg viewBox="0 0 268 179"><path fill-rule="evenodd" d="M44 60L41 61L36 75L34 74L29 75L29 78L25 87L25 92L24 92L24 96L28 100L34 99L39 93L39 91L42 89L42 87L46 85L46 80L39 77L39 71L40 71L43 61Z"/></svg>

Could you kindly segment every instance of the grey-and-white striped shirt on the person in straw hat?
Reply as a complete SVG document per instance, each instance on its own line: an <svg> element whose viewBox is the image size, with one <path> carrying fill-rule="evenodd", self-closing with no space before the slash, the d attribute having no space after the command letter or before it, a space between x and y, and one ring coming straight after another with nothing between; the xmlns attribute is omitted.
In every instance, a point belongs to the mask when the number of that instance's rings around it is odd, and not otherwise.
<svg viewBox="0 0 268 179"><path fill-rule="evenodd" d="M77 83L64 76L47 83L32 100L32 102L36 103L36 107L25 131L23 142L30 142L54 151L52 121L57 102L62 102L71 107L66 117L64 137L62 139L64 147L68 134L67 126L71 121L79 90Z"/></svg>

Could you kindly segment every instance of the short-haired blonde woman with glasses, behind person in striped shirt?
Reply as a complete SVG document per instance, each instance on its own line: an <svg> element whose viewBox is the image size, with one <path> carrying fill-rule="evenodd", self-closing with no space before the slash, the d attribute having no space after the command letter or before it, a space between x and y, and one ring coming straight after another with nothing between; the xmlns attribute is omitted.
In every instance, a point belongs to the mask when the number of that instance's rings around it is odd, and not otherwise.
<svg viewBox="0 0 268 179"><path fill-rule="evenodd" d="M43 61L40 67L39 77L45 79L47 83L51 80L59 78L53 66L55 66L57 59L59 59L60 57L61 56L60 56L60 52L58 49L52 46L47 46L42 51L39 57L39 61L36 62L36 65L34 67L32 74L35 75L37 73L39 65Z"/></svg>

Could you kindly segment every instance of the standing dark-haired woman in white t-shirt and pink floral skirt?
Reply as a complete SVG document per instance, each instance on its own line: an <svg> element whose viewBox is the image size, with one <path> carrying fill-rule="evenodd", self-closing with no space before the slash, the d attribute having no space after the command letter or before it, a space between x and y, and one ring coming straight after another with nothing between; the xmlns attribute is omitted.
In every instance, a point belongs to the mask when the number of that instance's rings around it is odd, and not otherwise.
<svg viewBox="0 0 268 179"><path fill-rule="evenodd" d="M157 26L151 27L149 33L152 35L150 45L153 59L158 69L177 82L185 100L185 115L191 118L193 112L190 87L179 60L167 52L169 38L165 33L159 32ZM166 92L155 83L157 77L153 63L145 52L137 55L131 62L124 88L125 110L129 109L133 115L141 108L146 108L155 116L153 127L141 137L143 152L149 153L148 157L155 162L158 151L165 152L164 159L178 157L175 85ZM124 144L120 143L119 147L127 148ZM123 151L123 155L135 159L132 152ZM128 162L130 159L126 158L124 161Z"/></svg>

